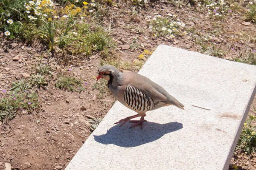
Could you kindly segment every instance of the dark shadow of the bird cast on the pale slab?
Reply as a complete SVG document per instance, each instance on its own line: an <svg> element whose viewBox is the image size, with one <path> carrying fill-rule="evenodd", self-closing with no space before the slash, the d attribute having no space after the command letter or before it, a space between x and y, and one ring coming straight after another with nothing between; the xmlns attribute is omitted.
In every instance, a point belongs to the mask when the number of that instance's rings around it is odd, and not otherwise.
<svg viewBox="0 0 256 170"><path fill-rule="evenodd" d="M178 122L166 124L146 122L143 125L143 130L141 130L139 126L129 129L131 125L133 124L126 123L122 127L115 125L104 135L93 135L94 140L102 144L115 144L120 147L136 147L156 141L167 133L183 128L182 123Z"/></svg>

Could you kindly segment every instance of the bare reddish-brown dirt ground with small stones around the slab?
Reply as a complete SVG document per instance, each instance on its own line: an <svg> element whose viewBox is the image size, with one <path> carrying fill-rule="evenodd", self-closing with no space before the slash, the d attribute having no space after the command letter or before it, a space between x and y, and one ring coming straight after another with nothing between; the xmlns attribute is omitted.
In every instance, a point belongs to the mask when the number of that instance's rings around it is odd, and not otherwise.
<svg viewBox="0 0 256 170"><path fill-rule="evenodd" d="M207 12L198 12L196 7L177 8L171 4L157 2L139 10L136 19L131 20L131 8L125 3L117 3L111 9L111 36L116 41L119 50L116 53L124 61L134 61L144 49L154 51L160 44L201 52L201 46L195 39L176 37L175 39L157 38L148 29L147 16L155 13L166 15L176 14L186 26L194 27L199 33L218 31L218 36L212 38L215 45L225 51L224 59L233 60L248 48L255 50L252 40L239 39L244 37L241 31L249 37L256 34L254 24L245 26L240 13L228 15L222 21L209 20ZM128 17L127 17L128 16ZM108 28L110 18L105 18L104 26ZM138 33L137 27L143 29ZM236 40L233 37L238 37ZM245 38L246 39L246 38ZM135 40L135 41L134 41ZM122 50L121 45L139 45L140 48ZM144 47L141 46L144 45ZM18 40L6 40L0 33L0 94L9 89L11 83L21 79L22 73L31 74L35 63L50 63L58 70L72 68L71 74L81 77L84 92L61 91L48 85L48 89L41 89L38 94L42 101L42 111L34 114L19 114L8 124L0 125L0 169L4 169L5 162L12 165L13 170L64 170L81 145L90 136L88 116L104 117L115 102L109 93L103 99L98 99L99 90L93 86L96 83L97 71L101 57L94 55L84 60L80 67L56 64L52 57L40 57L47 48L40 43L25 44ZM20 55L19 61L13 58ZM56 74L56 73L55 73ZM256 99L253 101L256 105ZM256 115L251 107L250 115ZM256 170L256 157L244 153L235 153L232 164L243 170Z"/></svg>

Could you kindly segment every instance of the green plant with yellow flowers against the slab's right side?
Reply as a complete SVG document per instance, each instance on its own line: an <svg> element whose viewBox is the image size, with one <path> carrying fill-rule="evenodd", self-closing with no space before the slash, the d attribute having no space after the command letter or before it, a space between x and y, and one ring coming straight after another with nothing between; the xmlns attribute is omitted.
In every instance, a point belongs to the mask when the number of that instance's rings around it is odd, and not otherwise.
<svg viewBox="0 0 256 170"><path fill-rule="evenodd" d="M252 125L254 120L255 116L249 116L246 120L238 142L238 148L247 154L255 153L256 149L256 127Z"/></svg>

